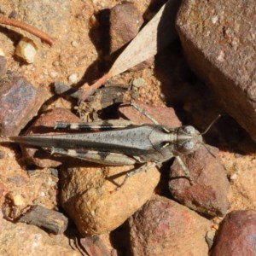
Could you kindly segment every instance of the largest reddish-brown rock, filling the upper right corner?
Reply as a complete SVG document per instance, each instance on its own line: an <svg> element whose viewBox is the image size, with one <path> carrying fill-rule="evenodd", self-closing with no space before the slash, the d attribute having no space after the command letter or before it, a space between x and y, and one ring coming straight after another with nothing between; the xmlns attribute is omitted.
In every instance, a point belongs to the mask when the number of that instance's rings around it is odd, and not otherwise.
<svg viewBox="0 0 256 256"><path fill-rule="evenodd" d="M254 141L255 12L253 0L189 0L183 1L177 15L177 32L190 67Z"/></svg>

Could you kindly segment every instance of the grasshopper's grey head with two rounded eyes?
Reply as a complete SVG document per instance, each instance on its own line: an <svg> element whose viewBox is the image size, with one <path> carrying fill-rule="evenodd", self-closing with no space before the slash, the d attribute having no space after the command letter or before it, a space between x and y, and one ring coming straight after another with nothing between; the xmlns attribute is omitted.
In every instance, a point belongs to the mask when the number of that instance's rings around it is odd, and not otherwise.
<svg viewBox="0 0 256 256"><path fill-rule="evenodd" d="M182 126L177 130L176 150L179 154L190 154L197 150L202 143L201 133L193 126Z"/></svg>

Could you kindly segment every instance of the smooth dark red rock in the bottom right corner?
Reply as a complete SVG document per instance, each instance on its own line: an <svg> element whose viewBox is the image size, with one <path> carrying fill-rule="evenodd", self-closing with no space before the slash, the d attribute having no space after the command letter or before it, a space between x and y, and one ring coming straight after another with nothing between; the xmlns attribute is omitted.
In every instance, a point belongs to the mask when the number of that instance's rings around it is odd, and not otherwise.
<svg viewBox="0 0 256 256"><path fill-rule="evenodd" d="M255 230L255 211L230 212L219 226L211 255L255 255Z"/></svg>

